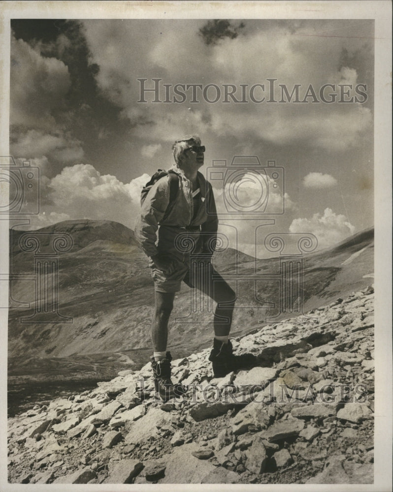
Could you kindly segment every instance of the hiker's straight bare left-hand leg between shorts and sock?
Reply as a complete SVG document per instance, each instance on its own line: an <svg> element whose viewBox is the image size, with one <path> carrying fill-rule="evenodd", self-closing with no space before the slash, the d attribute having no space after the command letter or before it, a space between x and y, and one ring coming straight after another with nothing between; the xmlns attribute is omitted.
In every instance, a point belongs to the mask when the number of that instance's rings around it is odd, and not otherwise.
<svg viewBox="0 0 393 492"><path fill-rule="evenodd" d="M152 341L155 352L164 352L168 339L168 320L173 309L174 292L156 292L156 305L152 320Z"/></svg>

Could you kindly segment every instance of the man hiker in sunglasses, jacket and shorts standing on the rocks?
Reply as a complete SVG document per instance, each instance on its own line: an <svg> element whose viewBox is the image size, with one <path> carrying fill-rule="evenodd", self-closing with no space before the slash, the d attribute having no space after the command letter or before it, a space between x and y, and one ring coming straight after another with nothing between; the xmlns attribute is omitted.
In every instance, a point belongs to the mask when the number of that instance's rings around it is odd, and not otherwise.
<svg viewBox="0 0 393 492"><path fill-rule="evenodd" d="M223 377L236 366L229 341L236 295L210 262L218 219L212 186L198 171L203 165L205 147L201 146L197 135L186 135L176 140L172 151L175 160L172 168L168 172L162 171L157 181L153 176L151 182L146 184L144 190L148 193L135 224L135 238L149 257L154 280L155 311L151 328L154 352L151 363L155 388L163 400L186 392L182 385L173 385L171 381L172 358L166 351L168 320L175 293L180 290L182 281L217 302L213 320L213 349L209 357L214 376ZM179 233L195 242L191 253L176 247L175 238ZM210 281L201 281L201 275L190 272L190 254L199 253L205 260L197 262L198 268L205 269L204 273L210 276ZM186 336L192 335L187 333Z"/></svg>

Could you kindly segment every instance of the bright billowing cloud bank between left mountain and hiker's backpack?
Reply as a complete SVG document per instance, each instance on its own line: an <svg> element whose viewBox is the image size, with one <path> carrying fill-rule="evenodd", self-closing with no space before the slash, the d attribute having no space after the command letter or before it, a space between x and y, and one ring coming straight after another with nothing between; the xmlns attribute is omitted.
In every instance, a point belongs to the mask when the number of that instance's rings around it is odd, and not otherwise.
<svg viewBox="0 0 393 492"><path fill-rule="evenodd" d="M67 166L42 184L48 199L34 225L43 227L59 220L87 218L114 220L133 228L140 191L149 179L143 174L130 183L122 183L115 176L101 175L89 164Z"/></svg>

